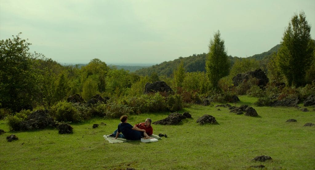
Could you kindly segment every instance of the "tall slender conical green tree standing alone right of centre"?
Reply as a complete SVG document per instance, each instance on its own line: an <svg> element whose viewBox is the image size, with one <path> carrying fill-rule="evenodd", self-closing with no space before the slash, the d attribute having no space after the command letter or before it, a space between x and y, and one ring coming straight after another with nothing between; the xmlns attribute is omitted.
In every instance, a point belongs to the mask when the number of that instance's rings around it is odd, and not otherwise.
<svg viewBox="0 0 315 170"><path fill-rule="evenodd" d="M221 40L221 34L218 30L214 39L210 40L209 54L206 60L206 71L213 89L219 89L218 82L229 74L229 68L230 63L225 51L224 40Z"/></svg>

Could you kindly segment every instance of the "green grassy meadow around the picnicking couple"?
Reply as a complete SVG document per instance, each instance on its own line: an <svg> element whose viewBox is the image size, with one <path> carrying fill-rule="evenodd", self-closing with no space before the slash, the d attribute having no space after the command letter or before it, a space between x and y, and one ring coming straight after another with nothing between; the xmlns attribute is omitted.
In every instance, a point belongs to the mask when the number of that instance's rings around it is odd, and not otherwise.
<svg viewBox="0 0 315 170"><path fill-rule="evenodd" d="M9 132L1 120L0 129L7 133L0 135L0 169L251 169L261 164L267 169L315 169L315 126L303 126L315 123L314 108L302 112L294 107L255 107L256 98L239 98L241 102L230 104L251 105L259 116L193 105L180 112L189 112L192 118L179 125L152 125L154 134L168 135L153 143L108 143L103 135L117 129L118 119L71 124L73 134L58 134L56 129ZM214 116L218 124L196 123L204 114ZM147 117L154 122L168 115L130 115L128 123L144 122ZM106 125L92 128L101 122ZM7 142L11 134L19 140ZM252 161L260 155L272 160Z"/></svg>

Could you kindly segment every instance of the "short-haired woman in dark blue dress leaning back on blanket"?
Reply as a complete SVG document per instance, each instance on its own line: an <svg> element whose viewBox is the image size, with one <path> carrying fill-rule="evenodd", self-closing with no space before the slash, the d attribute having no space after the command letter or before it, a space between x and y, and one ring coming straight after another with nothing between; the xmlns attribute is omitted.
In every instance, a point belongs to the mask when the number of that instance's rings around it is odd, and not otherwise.
<svg viewBox="0 0 315 170"><path fill-rule="evenodd" d="M129 140L139 140L143 137L146 139L152 139L148 134L146 134L146 130L139 129L137 127L133 127L131 124L127 123L128 116L123 115L120 117L121 123L118 124L118 131L115 139L118 138L120 133L123 133L126 139Z"/></svg>

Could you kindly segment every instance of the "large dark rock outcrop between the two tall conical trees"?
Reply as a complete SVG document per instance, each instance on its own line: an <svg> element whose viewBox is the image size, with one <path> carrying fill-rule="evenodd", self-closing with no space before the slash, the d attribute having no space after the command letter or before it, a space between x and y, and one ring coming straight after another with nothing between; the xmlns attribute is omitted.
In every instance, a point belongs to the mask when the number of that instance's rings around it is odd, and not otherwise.
<svg viewBox="0 0 315 170"><path fill-rule="evenodd" d="M245 74L237 74L232 78L234 86L238 86L240 83L245 82L251 78L257 78L258 81L256 85L260 87L265 87L269 82L268 77L266 76L265 72L261 69L257 69L255 71L250 71Z"/></svg>

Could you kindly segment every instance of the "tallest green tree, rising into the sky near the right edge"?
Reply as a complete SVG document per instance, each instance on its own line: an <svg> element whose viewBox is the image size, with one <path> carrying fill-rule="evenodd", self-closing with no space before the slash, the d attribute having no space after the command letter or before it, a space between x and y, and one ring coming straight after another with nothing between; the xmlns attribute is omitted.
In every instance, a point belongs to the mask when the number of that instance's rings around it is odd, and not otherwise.
<svg viewBox="0 0 315 170"><path fill-rule="evenodd" d="M287 86L305 84L306 71L314 60L314 42L310 31L311 25L307 23L303 11L293 15L284 31L275 63L286 78Z"/></svg>

